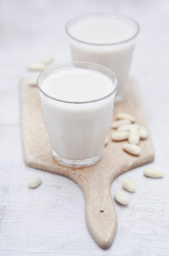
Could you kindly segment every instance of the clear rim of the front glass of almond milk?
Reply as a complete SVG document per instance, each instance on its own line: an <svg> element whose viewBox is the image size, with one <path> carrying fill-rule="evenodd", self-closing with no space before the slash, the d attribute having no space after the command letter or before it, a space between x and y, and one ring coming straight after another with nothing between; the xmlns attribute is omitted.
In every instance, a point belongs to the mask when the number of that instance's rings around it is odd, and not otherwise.
<svg viewBox="0 0 169 256"><path fill-rule="evenodd" d="M108 71L114 77L115 83L113 83L113 81L112 81L112 83L114 85L113 90L110 93L106 94L104 97L101 97L101 98L98 98L98 99L95 99L95 100L88 100L88 101L66 101L66 100L61 100L61 99L57 99L55 97L52 97L49 94L47 94L46 92L44 92L43 89L41 89L41 87L40 87L40 78L41 78L41 76L45 75L45 73L47 73L49 70L56 70L56 69L66 68L66 67L76 67L75 65L78 65L78 64L82 64L82 65L83 64L84 65L88 64L88 65L92 65L92 66L95 66L95 67L100 67L100 68ZM77 66L77 68L78 68L78 66ZM83 68L87 69L85 67L83 67ZM98 70L92 69L92 68L88 68L88 69L98 71ZM102 71L98 71L98 72L102 73ZM104 75L107 76L106 74L104 74ZM111 77L109 77L109 78L111 79ZM119 83L118 83L117 76L114 74L114 72L111 69L106 68L105 66L99 65L97 63L86 62L86 61L66 62L66 63L61 63L61 64L57 64L57 65L48 67L48 68L44 69L44 71L42 71L39 74L38 78L37 78L37 87L38 87L39 91L41 93L43 93L46 97L48 97L48 98L50 98L52 100L55 100L55 101L60 101L60 102L64 102L64 103L72 103L72 104L92 103L92 102L97 102L97 101L100 101L100 100L104 100L104 99L108 98L109 96L111 96L112 94L114 94L117 91L118 86L119 86Z"/></svg>

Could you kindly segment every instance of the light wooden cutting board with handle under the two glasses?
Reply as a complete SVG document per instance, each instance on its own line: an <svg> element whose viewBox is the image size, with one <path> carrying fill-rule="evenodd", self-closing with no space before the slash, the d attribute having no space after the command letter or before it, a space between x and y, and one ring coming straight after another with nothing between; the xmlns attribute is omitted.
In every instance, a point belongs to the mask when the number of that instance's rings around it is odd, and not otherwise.
<svg viewBox="0 0 169 256"><path fill-rule="evenodd" d="M132 156L122 150L122 145L126 142L111 140L113 132L111 129L102 159L95 165L74 169L61 165L52 156L35 79L23 79L21 82L21 108L25 162L31 167L64 175L78 183L86 198L88 229L101 247L108 248L113 242L117 228L111 183L123 172L153 161L154 149L150 136L147 140L140 141L141 154ZM123 102L116 103L114 106L114 116L119 112L133 115L138 124L147 127L134 78L130 78L125 87Z"/></svg>

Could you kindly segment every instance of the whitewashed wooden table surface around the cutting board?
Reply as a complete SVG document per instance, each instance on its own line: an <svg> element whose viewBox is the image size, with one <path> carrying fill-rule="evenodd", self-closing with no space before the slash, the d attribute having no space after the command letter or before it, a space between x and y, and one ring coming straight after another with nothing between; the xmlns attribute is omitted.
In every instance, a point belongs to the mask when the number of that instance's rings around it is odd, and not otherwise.
<svg viewBox="0 0 169 256"><path fill-rule="evenodd" d="M118 227L112 246L101 249L85 221L85 198L78 185L23 162L19 84L37 77L31 62L52 55L71 60L64 26L88 12L116 11L138 20L141 31L131 74L140 85L155 147L147 166L163 179L143 175L143 167L117 177L112 196L126 177L137 189L128 206L115 204ZM169 1L168 0L1 0L0 1L0 255L169 255ZM41 185L27 187L40 176Z"/></svg>

